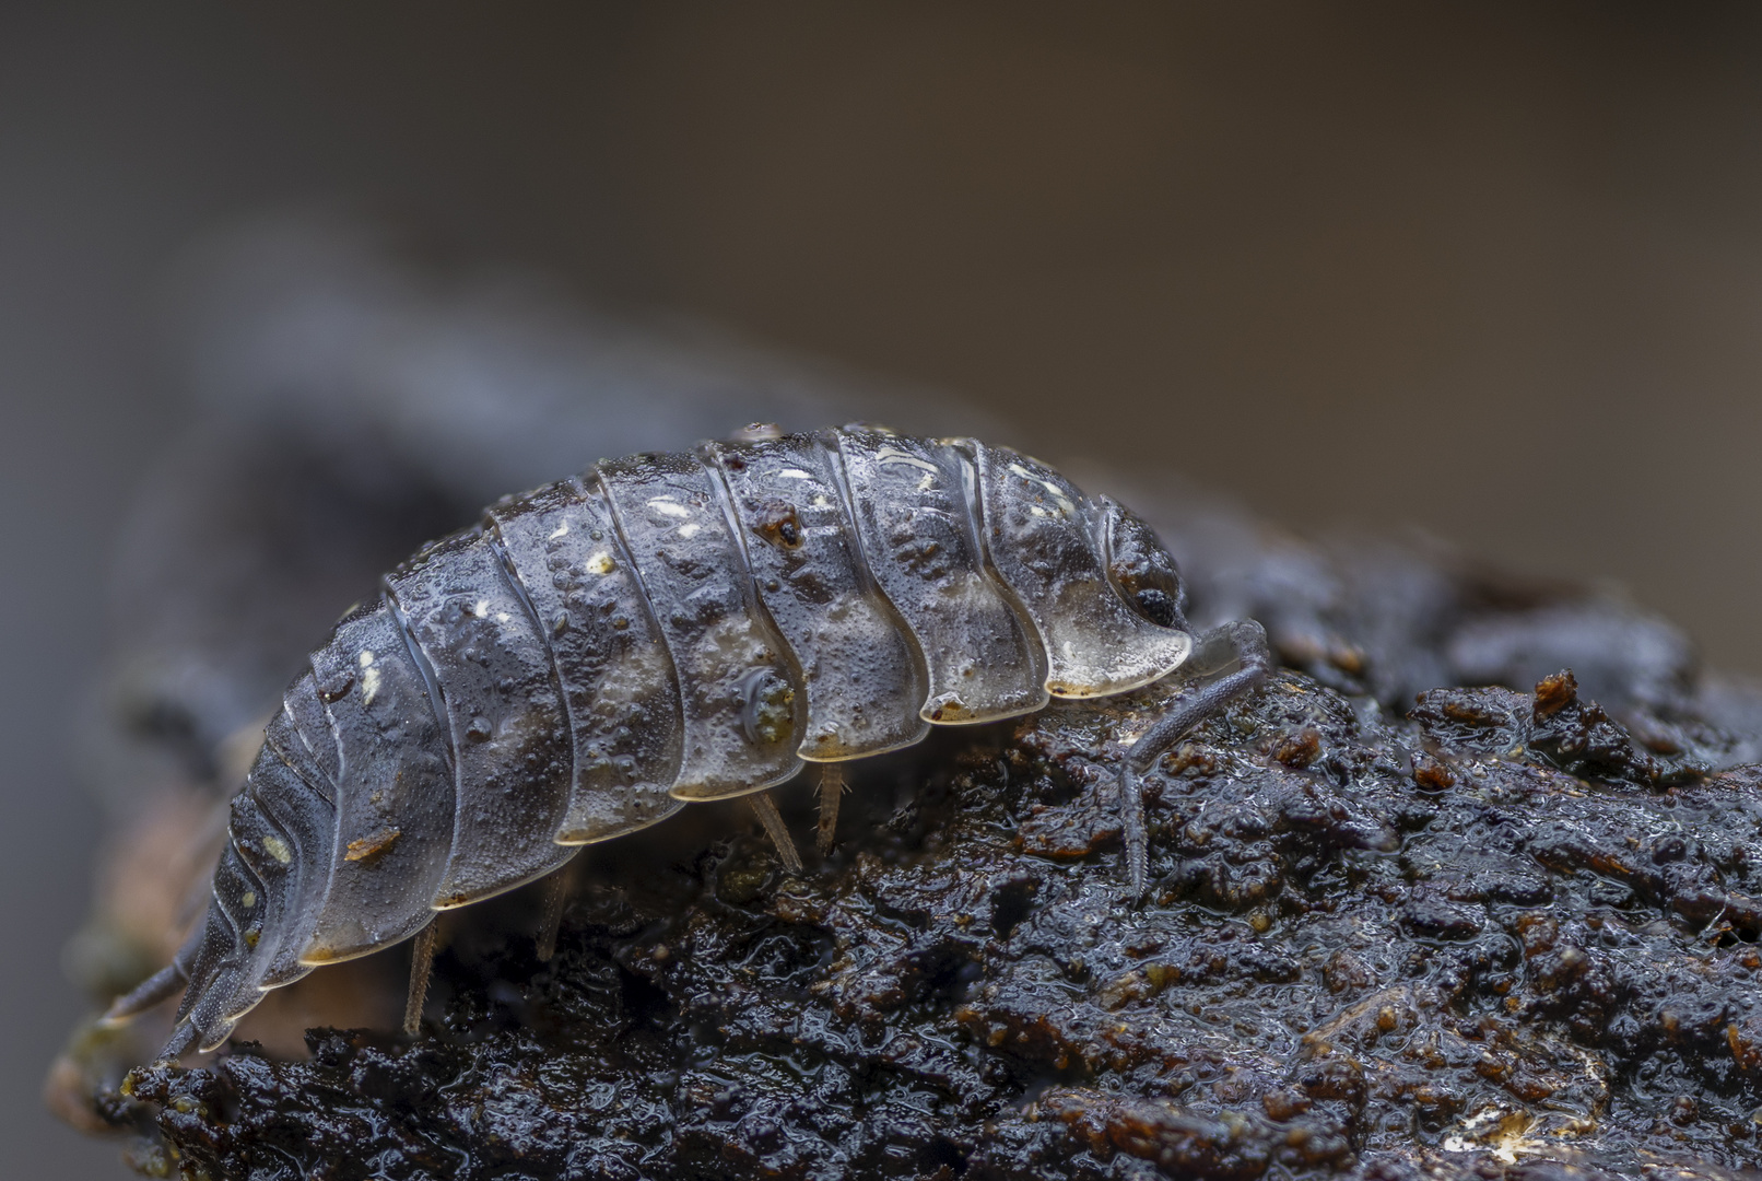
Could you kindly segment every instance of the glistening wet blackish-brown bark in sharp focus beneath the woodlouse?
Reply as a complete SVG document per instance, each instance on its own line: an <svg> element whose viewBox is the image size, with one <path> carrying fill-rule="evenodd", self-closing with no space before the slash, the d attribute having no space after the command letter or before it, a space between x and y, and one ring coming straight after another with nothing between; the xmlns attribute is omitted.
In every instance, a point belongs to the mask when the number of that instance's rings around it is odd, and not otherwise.
<svg viewBox="0 0 1762 1181"><path fill-rule="evenodd" d="M215 1181L1762 1158L1762 769L1716 770L1729 735L1640 742L1570 675L1401 717L1283 672L1149 777L1133 904L1114 772L1179 691L862 765L802 876L744 820L590 850L553 961L530 899L456 920L419 1038L234 1045L99 1112L144 1172Z"/></svg>

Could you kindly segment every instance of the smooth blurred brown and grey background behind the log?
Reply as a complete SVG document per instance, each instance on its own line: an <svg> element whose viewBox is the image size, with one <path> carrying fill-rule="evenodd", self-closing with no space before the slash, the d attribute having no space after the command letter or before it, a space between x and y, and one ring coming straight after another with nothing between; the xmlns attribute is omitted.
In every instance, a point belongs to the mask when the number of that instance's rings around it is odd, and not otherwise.
<svg viewBox="0 0 1762 1181"><path fill-rule="evenodd" d="M1762 670L1758 62L1753 5L4 5L7 1172L122 1176L37 1088L190 243L354 203L1048 460L1616 578Z"/></svg>

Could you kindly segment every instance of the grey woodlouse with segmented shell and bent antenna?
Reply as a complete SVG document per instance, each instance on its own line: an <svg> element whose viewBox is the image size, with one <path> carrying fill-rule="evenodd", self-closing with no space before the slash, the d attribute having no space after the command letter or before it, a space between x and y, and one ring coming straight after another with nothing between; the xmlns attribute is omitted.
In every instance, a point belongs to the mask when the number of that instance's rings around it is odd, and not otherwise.
<svg viewBox="0 0 1762 1181"><path fill-rule="evenodd" d="M1182 599L1142 520L971 439L749 428L504 499L312 654L233 798L206 920L111 1017L183 987L166 1052L213 1049L264 991L685 802L1237 659L1124 760L1138 894L1138 776L1267 668L1251 622L1195 656Z"/></svg>

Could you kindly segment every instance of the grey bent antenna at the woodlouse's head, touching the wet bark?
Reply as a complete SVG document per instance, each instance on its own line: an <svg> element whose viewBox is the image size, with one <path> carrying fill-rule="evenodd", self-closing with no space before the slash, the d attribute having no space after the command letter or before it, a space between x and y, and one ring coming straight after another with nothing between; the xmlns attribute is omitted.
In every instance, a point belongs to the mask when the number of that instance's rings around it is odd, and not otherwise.
<svg viewBox="0 0 1762 1181"><path fill-rule="evenodd" d="M1144 825L1144 772L1193 726L1239 696L1253 693L1267 680L1267 673L1272 670L1267 631L1251 619L1223 624L1200 636L1191 663L1198 672L1223 668L1230 663L1240 663L1240 668L1175 698L1168 705L1168 712L1131 744L1121 761L1119 811L1126 839L1126 874L1133 899L1144 897L1151 858L1151 837Z"/></svg>

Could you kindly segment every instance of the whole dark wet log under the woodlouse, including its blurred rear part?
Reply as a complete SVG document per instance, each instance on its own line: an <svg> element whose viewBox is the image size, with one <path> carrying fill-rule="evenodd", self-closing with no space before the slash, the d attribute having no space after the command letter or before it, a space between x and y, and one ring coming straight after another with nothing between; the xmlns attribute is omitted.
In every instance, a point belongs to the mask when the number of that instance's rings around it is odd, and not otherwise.
<svg viewBox="0 0 1762 1181"><path fill-rule="evenodd" d="M388 386L377 349L314 368L259 347L257 384L303 409L206 423L134 508L88 739L116 839L69 955L100 1005L176 947L289 672L419 541L522 479L731 428L729 405L925 427L909 398L580 316L502 347L553 319L347 307L335 323L428 326L391 335L412 342L391 368L425 377ZM435 340L493 379L446 384ZM414 1040L391 1033L393 950L271 992L215 1058L137 1066L164 1012L79 1031L51 1103L130 1137L150 1176L210 1181L1589 1181L1762 1160L1762 691L1616 596L1281 536L1158 487L1177 467L1073 474L1156 525L1195 624L1258 619L1284 668L1151 772L1144 904L1115 770L1181 684L851 765L840 844L800 876L740 802L594 846L550 962L530 890L446 918ZM809 786L782 795L811 844Z"/></svg>

